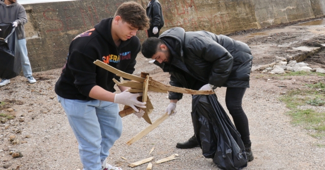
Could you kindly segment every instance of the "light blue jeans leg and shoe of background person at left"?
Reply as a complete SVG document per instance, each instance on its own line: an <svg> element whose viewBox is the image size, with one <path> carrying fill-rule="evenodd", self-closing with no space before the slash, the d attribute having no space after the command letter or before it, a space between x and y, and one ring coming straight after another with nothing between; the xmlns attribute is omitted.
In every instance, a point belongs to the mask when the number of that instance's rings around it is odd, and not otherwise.
<svg viewBox="0 0 325 170"><path fill-rule="evenodd" d="M18 39L18 49L20 53L21 67L24 73L24 76L27 78L29 83L35 83L36 80L32 77L31 66L28 59L27 47L26 47L26 39Z"/></svg>

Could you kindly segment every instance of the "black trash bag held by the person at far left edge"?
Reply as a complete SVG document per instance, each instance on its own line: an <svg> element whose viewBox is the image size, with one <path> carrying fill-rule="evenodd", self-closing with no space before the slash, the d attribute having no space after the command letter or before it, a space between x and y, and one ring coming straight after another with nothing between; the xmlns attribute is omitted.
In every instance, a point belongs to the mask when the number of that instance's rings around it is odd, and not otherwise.
<svg viewBox="0 0 325 170"><path fill-rule="evenodd" d="M21 70L20 57L15 57L15 27L0 23L0 78L16 77Z"/></svg>

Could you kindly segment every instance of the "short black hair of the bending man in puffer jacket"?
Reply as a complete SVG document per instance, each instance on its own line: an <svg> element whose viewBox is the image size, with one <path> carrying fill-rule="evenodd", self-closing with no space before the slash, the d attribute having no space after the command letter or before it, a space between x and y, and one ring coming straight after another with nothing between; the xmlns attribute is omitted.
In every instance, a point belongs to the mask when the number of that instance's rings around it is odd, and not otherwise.
<svg viewBox="0 0 325 170"><path fill-rule="evenodd" d="M141 53L145 58L151 58L157 51L161 51L159 46L165 44L163 40L157 37L149 37L144 40L141 46Z"/></svg>

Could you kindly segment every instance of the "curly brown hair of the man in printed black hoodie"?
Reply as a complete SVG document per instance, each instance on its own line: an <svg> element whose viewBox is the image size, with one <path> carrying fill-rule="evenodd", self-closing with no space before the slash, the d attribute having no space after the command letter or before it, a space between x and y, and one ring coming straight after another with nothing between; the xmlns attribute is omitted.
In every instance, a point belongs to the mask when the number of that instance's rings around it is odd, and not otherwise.
<svg viewBox="0 0 325 170"><path fill-rule="evenodd" d="M123 21L139 30L149 28L149 18L147 17L146 10L134 1L121 4L115 12L114 18L116 16L120 16Z"/></svg>

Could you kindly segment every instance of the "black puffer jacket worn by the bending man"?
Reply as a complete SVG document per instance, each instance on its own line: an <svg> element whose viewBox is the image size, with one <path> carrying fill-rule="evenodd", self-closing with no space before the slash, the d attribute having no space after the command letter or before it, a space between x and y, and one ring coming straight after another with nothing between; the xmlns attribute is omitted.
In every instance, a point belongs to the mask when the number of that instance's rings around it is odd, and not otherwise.
<svg viewBox="0 0 325 170"><path fill-rule="evenodd" d="M185 32L175 27L159 36L171 51L170 64L156 65L170 72L170 84L199 90L204 84L215 87L249 88L252 55L241 41L207 31ZM170 93L169 99L182 98Z"/></svg>

